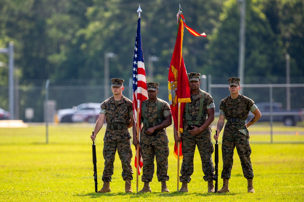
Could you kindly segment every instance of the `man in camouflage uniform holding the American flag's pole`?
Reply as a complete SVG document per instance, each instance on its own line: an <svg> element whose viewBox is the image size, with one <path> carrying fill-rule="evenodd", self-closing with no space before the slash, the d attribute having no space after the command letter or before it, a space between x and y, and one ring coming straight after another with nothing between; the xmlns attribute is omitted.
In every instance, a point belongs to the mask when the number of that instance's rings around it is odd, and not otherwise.
<svg viewBox="0 0 304 202"><path fill-rule="evenodd" d="M141 103L141 120L143 127L140 136L140 151L143 158L144 187L139 192L151 192L150 182L154 174L154 157L157 164L157 180L161 182L161 191L169 192L166 181L168 175L168 136L166 127L172 124L172 114L169 104L157 98L159 83L147 83L148 100ZM159 109L160 108L160 109ZM133 144L137 146L137 131L133 124Z"/></svg>

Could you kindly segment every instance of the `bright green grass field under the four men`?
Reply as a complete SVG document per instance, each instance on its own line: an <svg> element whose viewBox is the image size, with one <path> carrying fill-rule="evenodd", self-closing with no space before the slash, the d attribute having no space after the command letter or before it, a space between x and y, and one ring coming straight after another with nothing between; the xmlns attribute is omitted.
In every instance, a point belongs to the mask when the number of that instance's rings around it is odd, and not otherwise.
<svg viewBox="0 0 304 202"><path fill-rule="evenodd" d="M135 193L124 192L121 163L118 155L114 163L112 192L94 192L92 124L49 126L30 125L27 128L0 128L0 201L303 201L304 200L304 144L251 144L254 168L254 190L247 193L240 160L235 151L229 181L229 194L207 193L207 182L202 177L199 153L196 150L194 174L188 193L177 190L177 160L173 155L173 127L168 127L169 170L167 182L170 193L161 193L156 173L150 183L152 193L136 194L136 169L133 181ZM215 125L212 126L214 129ZM274 141L304 142L304 127L274 126ZM250 141L270 141L269 126L255 124L249 128ZM102 187L103 135L98 134L97 150L98 190ZM220 140L222 133L220 134ZM219 174L222 171L221 144L219 145ZM213 155L214 157L214 155ZM155 166L156 167L156 166ZM219 180L219 189L223 181ZM181 186L181 183L180 183ZM143 183L139 182L139 190Z"/></svg>

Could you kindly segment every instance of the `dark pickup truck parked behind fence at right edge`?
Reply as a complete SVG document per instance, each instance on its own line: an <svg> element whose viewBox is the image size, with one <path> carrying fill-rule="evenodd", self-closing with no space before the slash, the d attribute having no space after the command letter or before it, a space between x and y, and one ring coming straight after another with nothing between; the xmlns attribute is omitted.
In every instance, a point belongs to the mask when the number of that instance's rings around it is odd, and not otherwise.
<svg viewBox="0 0 304 202"><path fill-rule="evenodd" d="M259 102L255 104L261 111L261 118L258 121L270 121L270 102ZM285 126L294 126L298 121L304 120L304 108L286 110L282 108L280 102L272 103L272 120L283 122ZM250 121L254 115L249 112L247 121Z"/></svg>

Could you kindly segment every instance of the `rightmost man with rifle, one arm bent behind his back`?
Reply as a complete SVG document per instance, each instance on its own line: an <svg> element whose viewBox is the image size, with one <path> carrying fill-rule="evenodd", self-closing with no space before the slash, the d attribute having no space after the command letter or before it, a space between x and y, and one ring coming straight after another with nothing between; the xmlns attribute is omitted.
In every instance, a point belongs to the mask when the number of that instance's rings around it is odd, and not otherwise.
<svg viewBox="0 0 304 202"><path fill-rule="evenodd" d="M219 193L230 192L228 181L231 177L233 165L233 151L237 148L240 157L244 177L248 181L248 192L254 193L252 180L254 177L252 164L250 161L251 147L249 144L249 131L247 127L254 124L260 117L261 113L257 109L254 101L244 95L239 94L240 78L229 78L230 95L224 98L219 105L219 121L217 125L218 134L223 128L225 119L227 120L222 144L223 171L223 188ZM249 111L254 117L245 124ZM218 136L214 136L217 140Z"/></svg>

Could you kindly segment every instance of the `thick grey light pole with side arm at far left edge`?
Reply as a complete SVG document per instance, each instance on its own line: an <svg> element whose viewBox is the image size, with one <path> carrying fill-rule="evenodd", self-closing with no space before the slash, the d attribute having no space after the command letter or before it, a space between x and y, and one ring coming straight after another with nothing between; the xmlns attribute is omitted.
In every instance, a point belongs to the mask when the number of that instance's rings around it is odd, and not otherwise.
<svg viewBox="0 0 304 202"><path fill-rule="evenodd" d="M0 53L9 55L9 113L10 119L14 120L14 42L9 42L9 48L0 48Z"/></svg>

